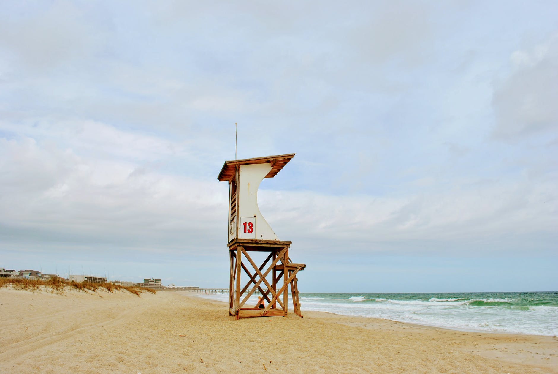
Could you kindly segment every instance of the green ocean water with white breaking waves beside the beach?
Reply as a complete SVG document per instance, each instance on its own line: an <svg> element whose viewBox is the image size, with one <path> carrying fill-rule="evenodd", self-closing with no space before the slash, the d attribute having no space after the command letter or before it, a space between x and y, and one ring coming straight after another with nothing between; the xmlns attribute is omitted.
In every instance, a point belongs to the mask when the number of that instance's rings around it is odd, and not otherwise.
<svg viewBox="0 0 558 374"><path fill-rule="evenodd" d="M206 297L228 300L228 295ZM303 315L329 311L465 331L558 336L558 292L301 293L300 303Z"/></svg>

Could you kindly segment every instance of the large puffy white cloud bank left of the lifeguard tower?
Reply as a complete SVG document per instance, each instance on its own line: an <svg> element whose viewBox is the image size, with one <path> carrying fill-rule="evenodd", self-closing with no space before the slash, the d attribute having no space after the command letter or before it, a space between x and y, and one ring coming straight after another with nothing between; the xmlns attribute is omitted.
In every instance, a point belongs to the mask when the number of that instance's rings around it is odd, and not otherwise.
<svg viewBox="0 0 558 374"><path fill-rule="evenodd" d="M95 135L121 144L96 144ZM97 152L84 152L81 136L92 136L89 147ZM203 242L218 226L217 207L226 209L227 191L217 181L161 174L143 162L164 157L167 142L100 124L66 140L70 145L60 147L48 139L0 138L4 242L165 251L191 249L196 236Z"/></svg>

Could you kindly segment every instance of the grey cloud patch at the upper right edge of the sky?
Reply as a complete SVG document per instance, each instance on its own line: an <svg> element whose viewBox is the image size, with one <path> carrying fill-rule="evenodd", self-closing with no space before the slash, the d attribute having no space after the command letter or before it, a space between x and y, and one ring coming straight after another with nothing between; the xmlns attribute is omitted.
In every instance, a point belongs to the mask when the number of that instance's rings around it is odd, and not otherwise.
<svg viewBox="0 0 558 374"><path fill-rule="evenodd" d="M513 140L558 129L558 35L514 51L510 60L511 74L494 89L494 136Z"/></svg>

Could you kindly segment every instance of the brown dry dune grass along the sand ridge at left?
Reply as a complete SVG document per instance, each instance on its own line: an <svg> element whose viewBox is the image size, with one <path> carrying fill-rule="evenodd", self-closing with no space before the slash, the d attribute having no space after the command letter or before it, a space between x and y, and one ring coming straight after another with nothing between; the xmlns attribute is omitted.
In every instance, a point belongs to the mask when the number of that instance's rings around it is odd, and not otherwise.
<svg viewBox="0 0 558 374"><path fill-rule="evenodd" d="M89 283L89 282L70 282L60 278L42 279L26 279L26 278L0 278L0 287L11 285L15 289L36 291L40 289L50 289L52 292L61 293L70 287L79 291L87 290L96 292L98 289L105 289L110 293L114 291L126 290L131 294L140 296L141 293L150 292L155 294L156 291L150 288L140 286L120 286L112 283Z"/></svg>

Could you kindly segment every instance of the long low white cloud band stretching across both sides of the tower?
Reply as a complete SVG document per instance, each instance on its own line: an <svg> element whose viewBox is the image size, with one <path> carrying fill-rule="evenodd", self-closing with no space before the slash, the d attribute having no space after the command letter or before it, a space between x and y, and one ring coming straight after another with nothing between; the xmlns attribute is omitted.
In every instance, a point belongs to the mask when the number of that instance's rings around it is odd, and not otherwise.
<svg viewBox="0 0 558 374"><path fill-rule="evenodd" d="M184 146L106 124L87 126L94 130L37 126L27 130L36 138L0 139L4 242L152 252L221 246L215 233L225 229L228 187L215 180L217 171L205 179L153 167L175 157L172 148L186 155ZM405 193L332 195L275 190L290 178L286 172L262 187L262 213L282 239L310 248L328 242L324 253L343 246L347 253L401 255L428 242L429 251L456 255L479 239L497 243L491 251L498 252L513 246L513 235L501 239L507 233L546 238L532 250L545 253L558 226L552 179L460 180L440 189L437 178L421 176L408 181ZM358 181L345 180L351 183Z"/></svg>

